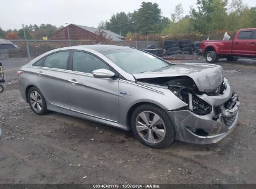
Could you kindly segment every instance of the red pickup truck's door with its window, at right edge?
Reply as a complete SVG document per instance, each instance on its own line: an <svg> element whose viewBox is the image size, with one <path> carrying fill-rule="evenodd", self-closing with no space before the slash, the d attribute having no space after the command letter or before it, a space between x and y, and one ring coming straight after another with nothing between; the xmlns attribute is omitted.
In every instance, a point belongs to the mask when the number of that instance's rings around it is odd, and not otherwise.
<svg viewBox="0 0 256 189"><path fill-rule="evenodd" d="M253 39L253 30L241 30L234 39L232 54L234 55L252 55L252 45L255 40Z"/></svg>

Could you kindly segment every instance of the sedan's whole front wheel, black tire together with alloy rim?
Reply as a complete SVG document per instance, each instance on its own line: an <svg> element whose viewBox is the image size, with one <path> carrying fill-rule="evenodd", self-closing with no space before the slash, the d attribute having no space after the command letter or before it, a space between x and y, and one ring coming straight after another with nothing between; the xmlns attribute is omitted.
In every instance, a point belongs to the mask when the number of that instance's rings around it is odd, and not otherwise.
<svg viewBox="0 0 256 189"><path fill-rule="evenodd" d="M154 118L157 118L155 116L159 118L158 124L151 125ZM145 119L146 121L143 121ZM141 124L138 124L138 122ZM146 122L148 122L148 124L145 124ZM155 149L164 148L175 139L175 129L168 114L158 106L151 104L141 105L133 111L131 116L131 129L141 143ZM138 129L140 131L138 131ZM149 133L151 135L149 135Z"/></svg>

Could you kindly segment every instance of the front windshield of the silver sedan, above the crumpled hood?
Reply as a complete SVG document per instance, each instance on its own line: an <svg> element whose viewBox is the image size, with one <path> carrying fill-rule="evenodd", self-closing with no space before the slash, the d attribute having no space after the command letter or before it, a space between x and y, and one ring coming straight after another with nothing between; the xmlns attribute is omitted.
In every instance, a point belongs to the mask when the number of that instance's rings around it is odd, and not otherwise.
<svg viewBox="0 0 256 189"><path fill-rule="evenodd" d="M171 63L134 48L110 50L102 52L102 54L112 60L118 67L131 74L158 70L171 65Z"/></svg>

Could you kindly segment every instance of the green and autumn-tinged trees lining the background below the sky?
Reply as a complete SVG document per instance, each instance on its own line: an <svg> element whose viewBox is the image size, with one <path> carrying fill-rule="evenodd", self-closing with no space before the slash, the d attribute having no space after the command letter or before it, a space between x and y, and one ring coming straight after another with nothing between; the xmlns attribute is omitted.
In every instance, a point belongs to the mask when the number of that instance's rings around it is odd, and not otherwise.
<svg viewBox="0 0 256 189"><path fill-rule="evenodd" d="M195 38L211 34L215 37L224 30L234 33L248 27L256 27L256 7L247 6L243 0L197 0L186 15L182 4L178 4L170 17L162 16L157 3L142 2L137 10L117 12L98 25L100 29L111 30L131 40L192 34ZM42 39L62 28L51 24L26 25L26 38ZM0 28L0 38L24 39L23 30Z"/></svg>

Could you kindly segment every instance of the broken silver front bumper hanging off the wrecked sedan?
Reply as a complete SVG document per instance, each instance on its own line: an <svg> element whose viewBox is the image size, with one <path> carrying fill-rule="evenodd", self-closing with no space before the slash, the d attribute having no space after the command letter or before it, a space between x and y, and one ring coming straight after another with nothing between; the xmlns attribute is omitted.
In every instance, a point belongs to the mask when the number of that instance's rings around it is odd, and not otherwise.
<svg viewBox="0 0 256 189"><path fill-rule="evenodd" d="M234 94L237 95L237 94ZM167 111L176 128L176 139L195 144L212 144L227 136L236 126L239 115L239 101L234 101L232 109L224 104L212 109L210 114L199 116L189 110ZM220 111L216 112L216 108Z"/></svg>

